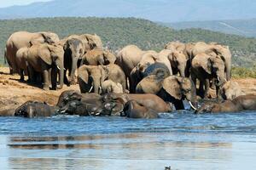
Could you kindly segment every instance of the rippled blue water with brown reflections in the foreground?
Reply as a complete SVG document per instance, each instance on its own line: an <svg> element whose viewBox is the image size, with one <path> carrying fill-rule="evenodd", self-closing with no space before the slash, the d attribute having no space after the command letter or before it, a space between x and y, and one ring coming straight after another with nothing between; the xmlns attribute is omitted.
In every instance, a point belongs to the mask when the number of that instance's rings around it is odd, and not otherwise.
<svg viewBox="0 0 256 170"><path fill-rule="evenodd" d="M256 169L256 113L0 117L0 169Z"/></svg>

